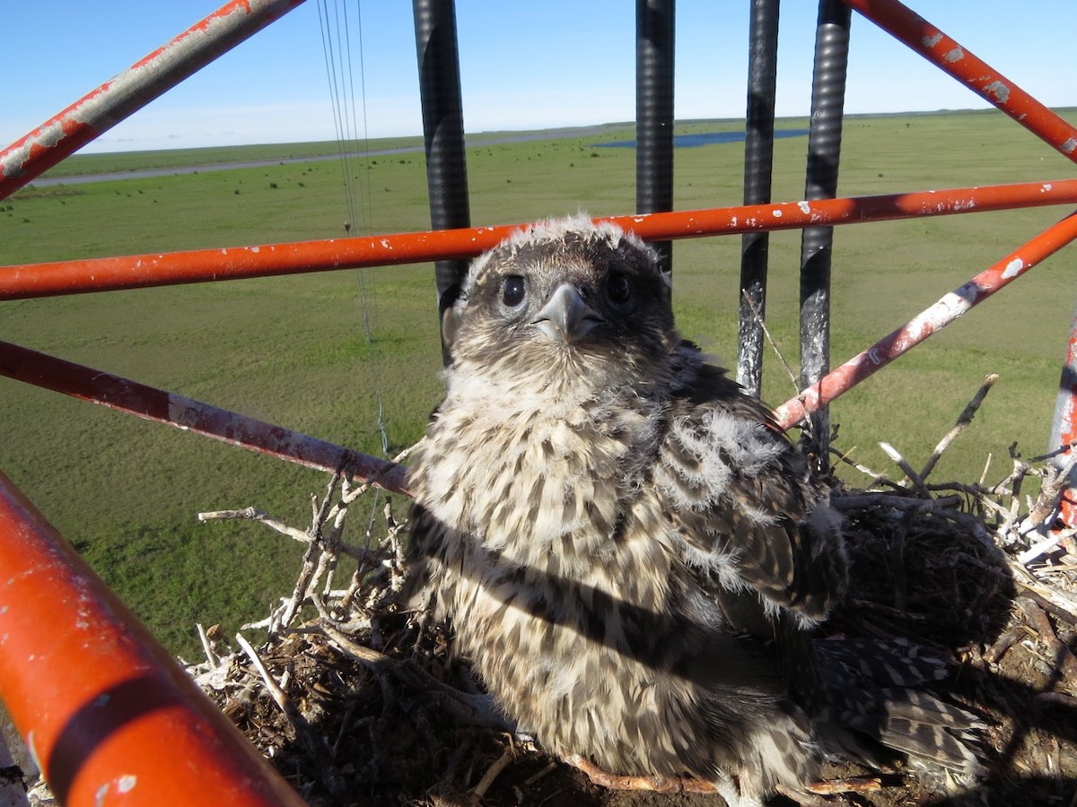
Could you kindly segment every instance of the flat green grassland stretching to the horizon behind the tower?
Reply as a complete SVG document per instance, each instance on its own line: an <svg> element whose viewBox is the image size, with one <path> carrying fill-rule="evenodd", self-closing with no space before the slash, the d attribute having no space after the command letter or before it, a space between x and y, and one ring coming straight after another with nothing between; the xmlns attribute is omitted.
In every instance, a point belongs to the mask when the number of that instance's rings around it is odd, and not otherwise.
<svg viewBox="0 0 1077 807"><path fill-rule="evenodd" d="M740 126L691 123L679 131ZM630 136L630 128L611 127L600 137L567 132L501 144L474 139L485 144L467 151L473 222L526 222L578 209L631 212L634 152L595 147ZM801 198L806 146L803 138L777 142L775 200ZM76 156L51 175L285 159L336 148ZM742 160L739 143L679 150L677 208L740 203ZM429 227L421 151L348 165L361 211L352 233ZM341 168L330 160L30 186L0 202L0 265L339 237L348 217ZM850 117L839 192L1050 180L1071 172L1071 162L994 112ZM1066 212L837 228L833 363ZM799 233L772 235L770 255L768 323L795 365ZM919 465L983 377L996 372L1001 379L987 405L935 478L975 480L993 455L989 478L997 479L1015 441L1026 455L1041 452L1074 309L1074 263L1072 250L1061 252L842 397L831 408L840 425L837 448L893 472L877 448L887 440ZM726 362L736 356L739 268L739 237L674 246L681 329ZM2 339L375 454L381 452L379 396L395 452L422 434L442 388L429 265L8 301L0 303L0 324ZM765 373L765 397L773 404L788 398L791 382L773 356ZM172 650L196 653L196 621L222 622L230 633L290 593L298 544L256 524L199 524L195 514L256 505L304 525L309 496L322 493L324 475L6 379L0 379L0 469ZM397 504L400 511L405 507Z"/></svg>

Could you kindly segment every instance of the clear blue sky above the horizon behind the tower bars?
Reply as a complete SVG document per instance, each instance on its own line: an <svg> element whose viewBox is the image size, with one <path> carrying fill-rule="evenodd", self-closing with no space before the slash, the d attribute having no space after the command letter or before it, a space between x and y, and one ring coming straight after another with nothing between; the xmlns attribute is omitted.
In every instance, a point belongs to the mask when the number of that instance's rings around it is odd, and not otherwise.
<svg viewBox="0 0 1077 807"><path fill-rule="evenodd" d="M106 132L85 152L330 140L333 108L320 8L308 0ZM350 2L356 103L365 136L421 132L411 3ZM0 147L213 12L224 0L4 0ZM1077 105L1077 36L1064 0L907 0L967 49L1049 105ZM634 3L457 0L468 132L634 116ZM677 3L677 118L743 117L747 0ZM782 4L779 115L807 114L816 3ZM847 111L987 104L853 14ZM360 134L363 109L358 111Z"/></svg>

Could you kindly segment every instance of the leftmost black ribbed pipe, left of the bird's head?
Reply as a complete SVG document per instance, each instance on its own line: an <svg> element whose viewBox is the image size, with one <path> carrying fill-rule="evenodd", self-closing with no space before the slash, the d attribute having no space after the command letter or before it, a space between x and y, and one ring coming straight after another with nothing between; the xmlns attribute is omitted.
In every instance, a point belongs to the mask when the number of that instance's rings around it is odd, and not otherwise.
<svg viewBox="0 0 1077 807"><path fill-rule="evenodd" d="M412 0L411 8L419 58L430 224L433 229L470 227L456 5L453 0ZM434 264L438 317L457 299L466 272L466 260Z"/></svg>

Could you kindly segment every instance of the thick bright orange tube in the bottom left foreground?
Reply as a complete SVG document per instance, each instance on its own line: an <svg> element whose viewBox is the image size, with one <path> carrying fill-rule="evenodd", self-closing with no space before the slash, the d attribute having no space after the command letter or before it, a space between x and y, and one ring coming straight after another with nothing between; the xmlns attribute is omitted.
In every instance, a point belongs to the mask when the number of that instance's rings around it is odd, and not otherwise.
<svg viewBox="0 0 1077 807"><path fill-rule="evenodd" d="M0 692L68 807L303 804L2 473Z"/></svg>

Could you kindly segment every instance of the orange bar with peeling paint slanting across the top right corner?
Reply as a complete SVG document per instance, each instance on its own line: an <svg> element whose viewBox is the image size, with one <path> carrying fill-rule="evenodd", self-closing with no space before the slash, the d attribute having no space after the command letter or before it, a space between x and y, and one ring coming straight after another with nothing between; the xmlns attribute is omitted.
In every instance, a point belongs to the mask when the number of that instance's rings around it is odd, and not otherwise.
<svg viewBox="0 0 1077 807"><path fill-rule="evenodd" d="M898 0L842 0L937 68L1077 161L1077 127ZM1004 24L1004 20L998 20Z"/></svg>

